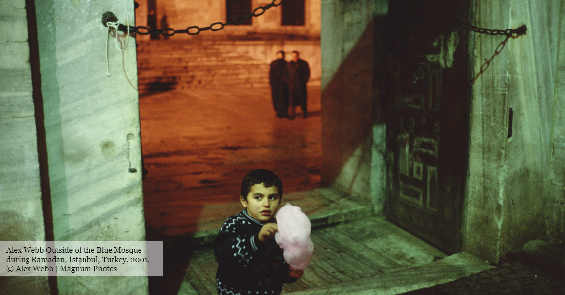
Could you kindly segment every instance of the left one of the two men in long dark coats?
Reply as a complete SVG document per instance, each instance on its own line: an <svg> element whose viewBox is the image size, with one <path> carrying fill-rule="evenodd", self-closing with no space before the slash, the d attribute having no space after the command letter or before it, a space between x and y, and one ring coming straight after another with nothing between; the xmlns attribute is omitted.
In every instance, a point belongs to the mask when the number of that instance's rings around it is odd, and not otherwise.
<svg viewBox="0 0 565 295"><path fill-rule="evenodd" d="M288 86L284 80L286 71L286 60L284 51L277 52L277 59L271 63L269 71L269 84L271 84L271 98L276 116L286 118L288 116Z"/></svg>

